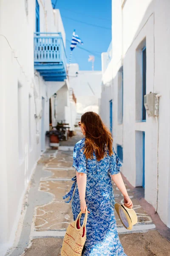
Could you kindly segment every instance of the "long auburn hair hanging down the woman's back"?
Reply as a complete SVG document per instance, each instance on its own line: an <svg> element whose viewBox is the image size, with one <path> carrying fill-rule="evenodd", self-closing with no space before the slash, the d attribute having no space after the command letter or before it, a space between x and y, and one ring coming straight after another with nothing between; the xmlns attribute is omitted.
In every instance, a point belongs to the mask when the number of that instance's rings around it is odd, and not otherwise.
<svg viewBox="0 0 170 256"><path fill-rule="evenodd" d="M93 111L84 113L81 116L81 125L85 130L84 154L87 159L94 158L94 150L98 161L107 155L107 149L110 156L113 154L112 134L97 113Z"/></svg>

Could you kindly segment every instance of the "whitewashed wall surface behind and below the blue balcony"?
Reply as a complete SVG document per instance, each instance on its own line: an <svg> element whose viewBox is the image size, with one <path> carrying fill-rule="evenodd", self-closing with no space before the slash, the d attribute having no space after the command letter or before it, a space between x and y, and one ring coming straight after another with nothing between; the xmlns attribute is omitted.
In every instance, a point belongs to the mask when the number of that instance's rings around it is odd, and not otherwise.
<svg viewBox="0 0 170 256"><path fill-rule="evenodd" d="M28 1L28 15L25 2L0 0L0 255L14 241L23 195L45 149L49 98L61 86L48 88L39 73L34 75L35 0ZM59 10L53 12L51 0L38 2L40 31L62 32L65 44Z"/></svg>

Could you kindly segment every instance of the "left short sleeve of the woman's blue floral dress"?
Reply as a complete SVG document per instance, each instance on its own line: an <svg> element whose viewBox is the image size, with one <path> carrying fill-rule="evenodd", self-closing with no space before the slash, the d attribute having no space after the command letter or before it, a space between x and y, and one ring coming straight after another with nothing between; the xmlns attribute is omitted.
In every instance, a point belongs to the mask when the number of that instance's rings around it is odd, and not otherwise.
<svg viewBox="0 0 170 256"><path fill-rule="evenodd" d="M77 172L82 172L87 174L86 157L85 157L85 154L83 154L83 151L80 148L80 146L77 144L74 145L72 166L76 168Z"/></svg>

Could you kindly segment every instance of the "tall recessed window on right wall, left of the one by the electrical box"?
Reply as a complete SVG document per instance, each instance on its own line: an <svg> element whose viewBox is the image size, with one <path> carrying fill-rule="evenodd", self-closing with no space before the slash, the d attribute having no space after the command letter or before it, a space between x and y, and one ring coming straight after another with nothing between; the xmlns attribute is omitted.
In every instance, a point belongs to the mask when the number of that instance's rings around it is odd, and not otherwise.
<svg viewBox="0 0 170 256"><path fill-rule="evenodd" d="M118 124L123 122L123 67L118 73Z"/></svg>

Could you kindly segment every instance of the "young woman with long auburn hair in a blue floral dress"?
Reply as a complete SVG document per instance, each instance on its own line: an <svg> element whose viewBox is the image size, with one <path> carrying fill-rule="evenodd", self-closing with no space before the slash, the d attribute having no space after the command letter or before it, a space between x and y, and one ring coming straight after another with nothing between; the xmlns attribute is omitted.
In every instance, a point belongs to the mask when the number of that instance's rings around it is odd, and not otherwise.
<svg viewBox="0 0 170 256"><path fill-rule="evenodd" d="M132 208L125 184L120 174L122 164L113 148L110 131L94 112L86 112L79 122L85 136L77 142L73 151L73 166L76 176L70 196L72 212L76 220L80 209L88 209L86 241L82 256L127 256L119 240L114 215L113 180L124 196L124 204ZM76 184L77 183L77 184ZM73 191L76 186L74 196ZM83 215L82 215L83 216ZM80 220L82 225L83 217Z"/></svg>

